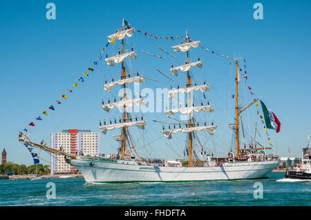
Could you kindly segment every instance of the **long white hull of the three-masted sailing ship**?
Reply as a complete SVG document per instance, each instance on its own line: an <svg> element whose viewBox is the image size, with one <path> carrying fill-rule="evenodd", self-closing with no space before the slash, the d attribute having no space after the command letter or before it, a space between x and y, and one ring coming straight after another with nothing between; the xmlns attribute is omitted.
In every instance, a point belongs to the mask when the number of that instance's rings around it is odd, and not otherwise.
<svg viewBox="0 0 311 220"><path fill-rule="evenodd" d="M91 163L91 166L90 166ZM129 163L129 164L127 164ZM280 161L223 163L215 167L140 166L134 161L70 159L86 182L174 182L259 179L279 166Z"/></svg>

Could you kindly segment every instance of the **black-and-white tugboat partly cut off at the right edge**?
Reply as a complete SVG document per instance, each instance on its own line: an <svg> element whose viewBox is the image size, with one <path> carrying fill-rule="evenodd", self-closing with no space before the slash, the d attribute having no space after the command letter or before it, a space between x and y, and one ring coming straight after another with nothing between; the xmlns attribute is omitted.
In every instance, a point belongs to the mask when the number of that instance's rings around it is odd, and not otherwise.
<svg viewBox="0 0 311 220"><path fill-rule="evenodd" d="M311 179L311 148L310 137L308 137L308 146L303 148L303 157L301 164L298 164L296 171L286 170L284 177L290 179Z"/></svg>

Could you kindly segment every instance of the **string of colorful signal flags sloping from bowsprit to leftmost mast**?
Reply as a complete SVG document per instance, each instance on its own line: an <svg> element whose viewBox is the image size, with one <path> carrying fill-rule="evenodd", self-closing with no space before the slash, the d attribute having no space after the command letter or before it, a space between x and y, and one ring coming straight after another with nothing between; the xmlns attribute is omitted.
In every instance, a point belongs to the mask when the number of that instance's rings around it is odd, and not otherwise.
<svg viewBox="0 0 311 220"><path fill-rule="evenodd" d="M98 61L100 61L100 60L102 59L102 53L104 52L104 50L105 50L108 46L109 46L109 42L106 43L106 46L105 46L104 48L102 48L102 52L100 53L100 55L96 57L95 61L93 61L93 66L97 66ZM89 70L90 72L93 72L93 71L94 71L94 69L93 69L92 66L90 66L90 67L88 68L88 70ZM90 73L89 73L88 71L84 72L83 76L82 76L82 77L79 77L79 79L78 79L79 84L80 84L80 82L83 83L83 82L85 81L85 77L88 77L89 74L90 74ZM66 99L67 99L67 95L70 94L71 92L73 92L74 88L78 88L78 87L79 87L79 84L78 84L77 82L73 83L73 88L69 88L64 94L62 94L61 98L64 99L64 100L66 100ZM61 100L62 100L62 99L61 99ZM59 105L59 104L61 104L62 102L60 101L60 99L57 99L57 100L55 101L55 103L56 103L57 105ZM48 116L48 115L50 114L50 112L51 112L51 111L54 111L54 110L55 110L55 106L50 105L50 106L48 107L48 109L47 109L47 110L44 110L41 114L44 114L44 115ZM35 118L35 120L37 120L37 121L42 121L43 119L42 119L41 116L39 115L38 117ZM28 123L28 126L32 126L32 127L33 127L33 126L35 126L35 125L36 125L36 124L35 124L33 121L31 121L30 123ZM26 128L23 128L23 131L28 132L28 130L27 130Z"/></svg>

